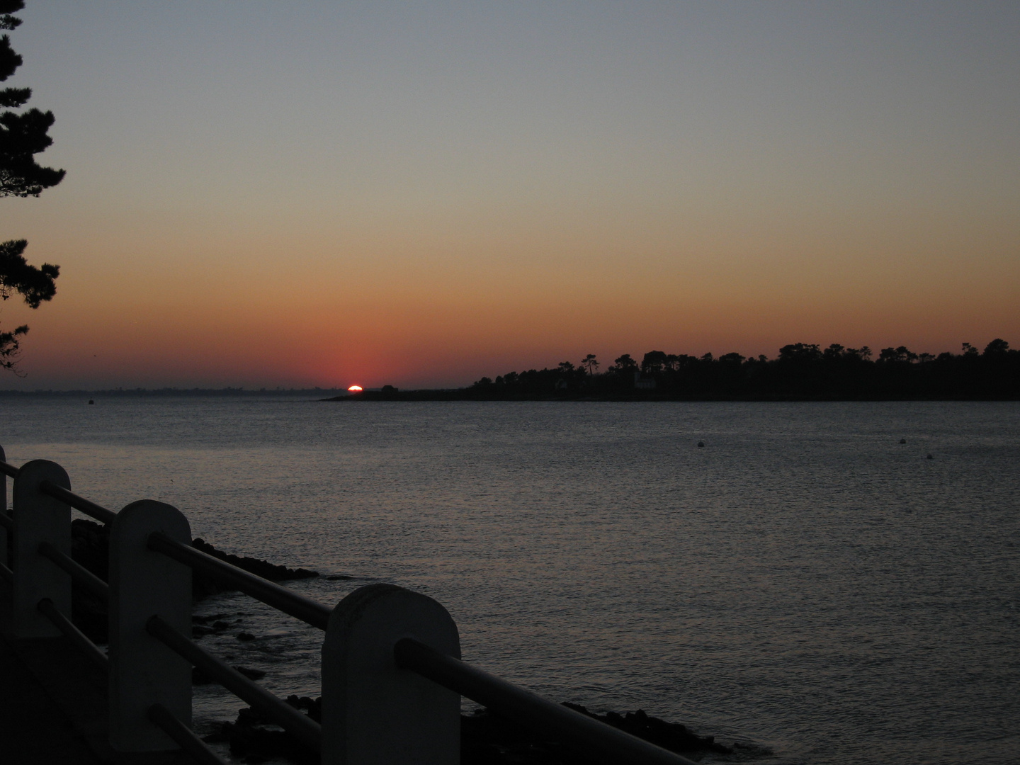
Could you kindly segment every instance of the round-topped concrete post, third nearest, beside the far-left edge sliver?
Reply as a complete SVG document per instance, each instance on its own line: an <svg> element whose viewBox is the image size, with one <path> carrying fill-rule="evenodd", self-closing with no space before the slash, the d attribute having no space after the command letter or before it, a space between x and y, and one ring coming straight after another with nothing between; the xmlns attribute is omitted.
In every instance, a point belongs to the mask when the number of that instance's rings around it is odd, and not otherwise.
<svg viewBox="0 0 1020 765"><path fill-rule="evenodd" d="M11 632L15 638L54 638L60 630L37 608L49 598L57 611L70 618L70 576L39 552L49 542L70 555L70 507L39 491L51 480L70 489L67 473L55 462L32 460L14 478L14 609Z"/></svg>

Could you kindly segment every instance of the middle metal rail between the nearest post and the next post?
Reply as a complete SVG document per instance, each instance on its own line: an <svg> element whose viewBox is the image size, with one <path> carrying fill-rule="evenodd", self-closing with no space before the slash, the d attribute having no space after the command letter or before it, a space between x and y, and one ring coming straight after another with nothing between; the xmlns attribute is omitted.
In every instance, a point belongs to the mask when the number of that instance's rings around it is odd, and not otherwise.
<svg viewBox="0 0 1020 765"><path fill-rule="evenodd" d="M318 752L322 746L322 728L313 719L280 701L261 685L252 682L236 669L207 654L195 643L167 624L159 616L145 623L149 634L162 641L174 653L183 656L253 709L261 712L309 749Z"/></svg>

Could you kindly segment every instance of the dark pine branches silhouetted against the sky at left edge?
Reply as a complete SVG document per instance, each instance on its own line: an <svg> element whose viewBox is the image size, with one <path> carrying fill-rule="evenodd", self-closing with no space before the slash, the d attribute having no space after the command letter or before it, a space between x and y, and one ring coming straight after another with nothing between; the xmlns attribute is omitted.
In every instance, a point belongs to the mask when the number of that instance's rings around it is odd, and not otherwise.
<svg viewBox="0 0 1020 765"><path fill-rule="evenodd" d="M22 0L0 0L0 29L14 30L21 19L12 16L24 7ZM4 82L21 65L21 57L10 47L10 37L0 38L0 82ZM43 190L59 184L63 170L42 167L36 162L36 154L45 151L53 143L47 134L53 125L53 113L39 109L14 112L32 97L30 88L5 88L0 90L0 107L7 111L0 113L0 197L38 197ZM29 243L10 240L0 243L0 298L7 300L17 293L24 297L31 308L53 298L56 294L55 279L60 267L44 263L37 268L24 259L24 248ZM19 339L29 332L22 324L13 332L0 333L0 367L15 370L20 350Z"/></svg>

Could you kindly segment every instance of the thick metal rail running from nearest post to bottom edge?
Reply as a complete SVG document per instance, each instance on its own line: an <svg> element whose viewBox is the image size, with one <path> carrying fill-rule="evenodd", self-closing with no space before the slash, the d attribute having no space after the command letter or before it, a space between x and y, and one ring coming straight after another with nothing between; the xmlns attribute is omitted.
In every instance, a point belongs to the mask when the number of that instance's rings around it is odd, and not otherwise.
<svg viewBox="0 0 1020 765"><path fill-rule="evenodd" d="M497 714L529 725L545 733L567 738L595 760L643 765L695 765L685 757L624 733L572 709L553 704L541 696L441 654L412 638L397 642L393 650L397 664L422 677L456 691Z"/></svg>

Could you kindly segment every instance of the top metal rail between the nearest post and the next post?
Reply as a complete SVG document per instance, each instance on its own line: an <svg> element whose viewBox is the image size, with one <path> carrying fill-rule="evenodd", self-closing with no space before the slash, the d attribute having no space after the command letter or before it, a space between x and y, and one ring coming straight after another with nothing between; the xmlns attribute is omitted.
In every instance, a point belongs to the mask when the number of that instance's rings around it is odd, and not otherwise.
<svg viewBox="0 0 1020 765"><path fill-rule="evenodd" d="M329 621L333 609L328 606L298 595L287 588L282 588L261 576L256 576L243 568L232 566L230 563L196 550L191 545L171 540L161 531L153 531L149 534L149 549L173 558L186 566L191 566L196 571L201 571L224 584L237 588L242 593L272 606L277 611L301 619L313 627L325 629Z"/></svg>

